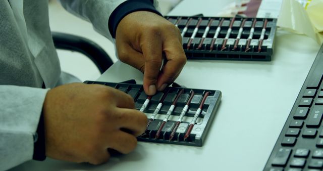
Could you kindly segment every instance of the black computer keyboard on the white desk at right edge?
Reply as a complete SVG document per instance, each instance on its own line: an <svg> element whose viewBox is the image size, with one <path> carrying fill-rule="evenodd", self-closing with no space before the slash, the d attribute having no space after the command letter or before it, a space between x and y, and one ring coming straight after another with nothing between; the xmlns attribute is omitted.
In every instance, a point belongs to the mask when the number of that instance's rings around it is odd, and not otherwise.
<svg viewBox="0 0 323 171"><path fill-rule="evenodd" d="M264 167L265 171L322 170L322 75L323 45Z"/></svg>

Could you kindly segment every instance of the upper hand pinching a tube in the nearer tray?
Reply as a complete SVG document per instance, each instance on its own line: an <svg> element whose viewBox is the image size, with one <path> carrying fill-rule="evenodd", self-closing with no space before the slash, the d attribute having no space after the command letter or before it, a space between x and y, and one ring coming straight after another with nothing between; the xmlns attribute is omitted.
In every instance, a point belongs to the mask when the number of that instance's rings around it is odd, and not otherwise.
<svg viewBox="0 0 323 171"><path fill-rule="evenodd" d="M163 91L180 74L186 63L179 29L159 15L137 11L125 16L116 31L121 61L144 73L147 95ZM166 60L161 68L163 56Z"/></svg>

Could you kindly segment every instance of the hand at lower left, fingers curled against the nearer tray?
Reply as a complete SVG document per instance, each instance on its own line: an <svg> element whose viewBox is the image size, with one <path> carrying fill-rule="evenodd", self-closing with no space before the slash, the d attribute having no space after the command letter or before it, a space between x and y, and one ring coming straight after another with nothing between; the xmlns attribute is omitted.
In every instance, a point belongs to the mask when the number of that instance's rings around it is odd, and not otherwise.
<svg viewBox="0 0 323 171"><path fill-rule="evenodd" d="M72 83L48 91L43 105L46 156L100 164L107 149L129 153L147 117L127 94L99 84Z"/></svg>

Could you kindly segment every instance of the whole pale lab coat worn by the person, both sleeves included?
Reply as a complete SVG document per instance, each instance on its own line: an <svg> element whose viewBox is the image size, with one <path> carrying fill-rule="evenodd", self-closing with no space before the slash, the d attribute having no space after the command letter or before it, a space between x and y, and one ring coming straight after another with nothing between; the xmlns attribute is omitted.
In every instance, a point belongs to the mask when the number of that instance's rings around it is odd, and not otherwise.
<svg viewBox="0 0 323 171"><path fill-rule="evenodd" d="M125 0L61 0L109 39L108 21ZM62 19L64 20L64 19ZM71 82L61 72L48 22L46 0L0 0L0 170L32 159L48 89ZM41 89L42 84L47 89Z"/></svg>

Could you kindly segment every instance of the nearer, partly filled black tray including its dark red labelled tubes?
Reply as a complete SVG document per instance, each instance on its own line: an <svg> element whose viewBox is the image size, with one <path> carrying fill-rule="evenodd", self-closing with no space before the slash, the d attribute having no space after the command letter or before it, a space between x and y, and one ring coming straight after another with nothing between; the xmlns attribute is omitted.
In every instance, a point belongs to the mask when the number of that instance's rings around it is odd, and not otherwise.
<svg viewBox="0 0 323 171"><path fill-rule="evenodd" d="M164 92L147 96L142 85L99 83L129 94L136 109L147 115L146 131L139 141L202 146L211 120L221 100L220 91L169 87Z"/></svg>

